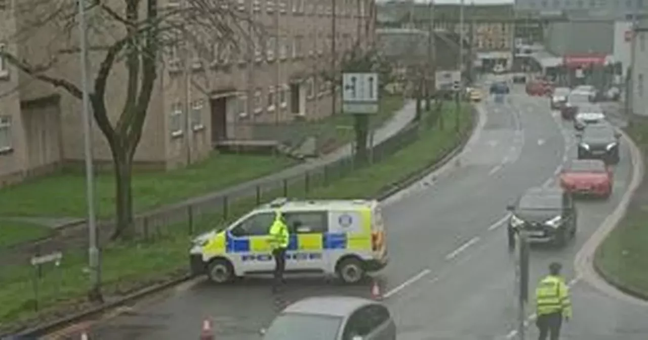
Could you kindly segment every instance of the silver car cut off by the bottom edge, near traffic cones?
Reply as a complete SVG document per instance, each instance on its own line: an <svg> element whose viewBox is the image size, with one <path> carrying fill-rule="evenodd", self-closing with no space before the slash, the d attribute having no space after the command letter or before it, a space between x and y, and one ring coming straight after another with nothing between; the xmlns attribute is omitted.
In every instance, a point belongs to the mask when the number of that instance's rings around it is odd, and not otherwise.
<svg viewBox="0 0 648 340"><path fill-rule="evenodd" d="M264 340L395 340L396 324L380 302L322 296L286 307L262 334Z"/></svg>

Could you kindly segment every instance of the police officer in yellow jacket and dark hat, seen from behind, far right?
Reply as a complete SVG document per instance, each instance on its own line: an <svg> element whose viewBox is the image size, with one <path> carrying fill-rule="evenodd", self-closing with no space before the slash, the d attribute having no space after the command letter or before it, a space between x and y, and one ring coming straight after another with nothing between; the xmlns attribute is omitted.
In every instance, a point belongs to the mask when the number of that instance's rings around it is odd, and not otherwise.
<svg viewBox="0 0 648 340"><path fill-rule="evenodd" d="M536 325L540 331L538 340L558 340L561 333L562 318L569 321L572 317L572 302L569 288L560 276L561 264L553 262L549 265L549 275L540 280L535 290Z"/></svg>

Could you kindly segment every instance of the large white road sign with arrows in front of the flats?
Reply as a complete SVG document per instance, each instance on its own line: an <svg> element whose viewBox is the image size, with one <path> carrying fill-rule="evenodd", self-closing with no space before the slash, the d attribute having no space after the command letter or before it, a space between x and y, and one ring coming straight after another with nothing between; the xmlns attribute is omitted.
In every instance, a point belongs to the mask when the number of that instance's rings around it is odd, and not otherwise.
<svg viewBox="0 0 648 340"><path fill-rule="evenodd" d="M342 111L352 114L378 113L378 74L342 75Z"/></svg>

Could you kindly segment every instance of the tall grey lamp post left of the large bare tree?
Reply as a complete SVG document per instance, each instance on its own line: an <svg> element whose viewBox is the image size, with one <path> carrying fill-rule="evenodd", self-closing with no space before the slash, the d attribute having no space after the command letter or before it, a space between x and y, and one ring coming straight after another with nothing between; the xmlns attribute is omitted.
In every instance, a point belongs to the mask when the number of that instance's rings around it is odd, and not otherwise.
<svg viewBox="0 0 648 340"><path fill-rule="evenodd" d="M87 199L87 227L88 227L88 267L90 269L90 290L88 297L91 301L103 301L101 296L101 271L99 266L99 250L97 247L97 221L95 216L95 170L92 154L92 117L90 117L90 96L87 80L87 27L86 27L86 1L78 0L79 7L79 35L81 52L81 86L83 92L83 129L84 129L84 157L86 158L86 199Z"/></svg>

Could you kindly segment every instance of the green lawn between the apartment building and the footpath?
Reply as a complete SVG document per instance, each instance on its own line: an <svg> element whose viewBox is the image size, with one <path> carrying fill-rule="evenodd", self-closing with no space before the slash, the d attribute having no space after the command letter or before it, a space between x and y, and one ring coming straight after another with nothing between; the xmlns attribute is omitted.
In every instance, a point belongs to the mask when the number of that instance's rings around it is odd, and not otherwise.
<svg viewBox="0 0 648 340"><path fill-rule="evenodd" d="M373 128L384 124L402 107L403 99L384 98ZM352 117L336 115L312 124L336 127L336 144L353 138ZM277 172L296 161L286 157L260 155L230 155L214 152L211 157L188 168L170 172L136 172L133 174L133 205L135 212L152 209L182 199L208 194L232 185ZM112 173L100 173L96 179L97 212L99 218L113 216L115 181ZM68 172L41 177L0 189L0 216L86 216L86 187L83 174Z"/></svg>

